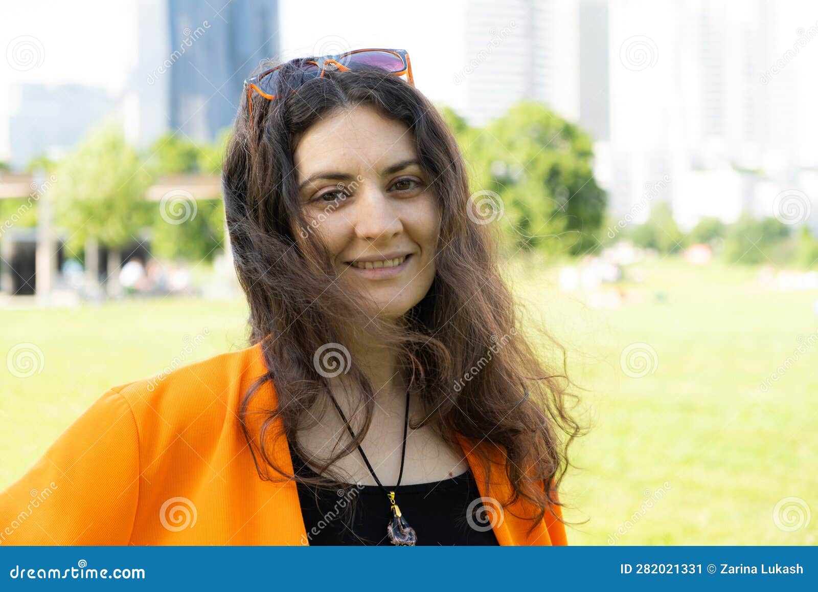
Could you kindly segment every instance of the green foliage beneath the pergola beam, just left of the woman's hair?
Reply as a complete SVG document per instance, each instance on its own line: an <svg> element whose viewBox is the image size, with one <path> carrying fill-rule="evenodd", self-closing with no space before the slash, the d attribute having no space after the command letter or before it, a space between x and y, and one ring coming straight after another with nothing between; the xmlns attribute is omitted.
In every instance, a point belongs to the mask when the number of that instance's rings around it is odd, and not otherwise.
<svg viewBox="0 0 818 592"><path fill-rule="evenodd" d="M155 255L168 259L188 260L192 263L211 261L221 252L224 240L224 206L222 200L196 201L196 215L182 224L170 224L160 214L160 205L154 206L151 248Z"/></svg>

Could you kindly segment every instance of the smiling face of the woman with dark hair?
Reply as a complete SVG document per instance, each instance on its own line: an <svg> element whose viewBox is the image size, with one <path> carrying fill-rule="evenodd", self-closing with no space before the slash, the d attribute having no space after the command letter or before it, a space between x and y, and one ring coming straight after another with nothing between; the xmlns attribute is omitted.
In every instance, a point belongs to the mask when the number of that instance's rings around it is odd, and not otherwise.
<svg viewBox="0 0 818 592"><path fill-rule="evenodd" d="M344 282L375 301L373 315L397 317L420 302L434 278L440 215L420 169L410 129L357 106L318 120L294 153L301 203Z"/></svg>

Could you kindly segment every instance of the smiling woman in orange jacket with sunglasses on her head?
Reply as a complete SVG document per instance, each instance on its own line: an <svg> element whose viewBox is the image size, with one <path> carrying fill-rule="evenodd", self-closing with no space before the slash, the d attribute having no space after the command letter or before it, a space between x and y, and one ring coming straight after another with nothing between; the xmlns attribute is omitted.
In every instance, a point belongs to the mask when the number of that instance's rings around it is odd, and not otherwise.
<svg viewBox="0 0 818 592"><path fill-rule="evenodd" d="M222 179L253 345L102 395L0 543L566 545L579 427L407 53L245 88Z"/></svg>

